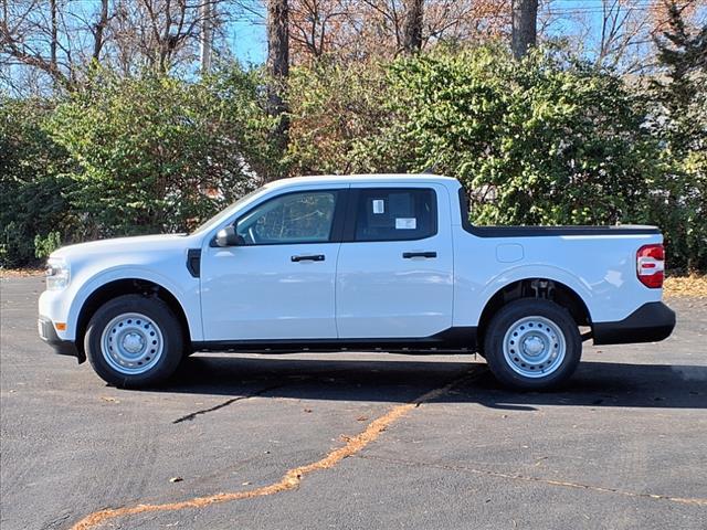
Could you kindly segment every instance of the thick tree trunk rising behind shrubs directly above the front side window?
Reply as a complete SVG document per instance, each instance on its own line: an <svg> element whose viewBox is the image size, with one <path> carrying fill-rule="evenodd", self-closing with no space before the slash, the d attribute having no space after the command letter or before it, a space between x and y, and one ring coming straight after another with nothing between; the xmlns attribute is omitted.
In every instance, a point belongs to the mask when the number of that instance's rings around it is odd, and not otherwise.
<svg viewBox="0 0 707 530"><path fill-rule="evenodd" d="M273 141L283 151L287 148L289 119L287 104L283 99L285 82L289 75L289 24L287 0L267 1L267 87L270 113L279 118Z"/></svg>

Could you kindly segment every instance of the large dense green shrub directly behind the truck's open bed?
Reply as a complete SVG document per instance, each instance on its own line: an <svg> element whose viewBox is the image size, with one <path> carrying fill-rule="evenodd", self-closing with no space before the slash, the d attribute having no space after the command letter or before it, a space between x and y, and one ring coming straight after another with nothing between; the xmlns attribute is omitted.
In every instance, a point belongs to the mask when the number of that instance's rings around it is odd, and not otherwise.
<svg viewBox="0 0 707 530"><path fill-rule="evenodd" d="M437 165L472 192L475 222L644 222L657 144L615 76L536 53L420 56L393 65L392 139L412 170Z"/></svg>

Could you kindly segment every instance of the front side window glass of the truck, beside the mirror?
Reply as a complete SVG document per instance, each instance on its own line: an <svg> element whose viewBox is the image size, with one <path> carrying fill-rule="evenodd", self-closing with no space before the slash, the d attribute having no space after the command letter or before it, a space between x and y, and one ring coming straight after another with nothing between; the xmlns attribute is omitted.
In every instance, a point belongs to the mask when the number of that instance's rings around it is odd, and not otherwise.
<svg viewBox="0 0 707 530"><path fill-rule="evenodd" d="M246 245L325 243L335 205L336 191L287 193L255 206L235 231Z"/></svg>

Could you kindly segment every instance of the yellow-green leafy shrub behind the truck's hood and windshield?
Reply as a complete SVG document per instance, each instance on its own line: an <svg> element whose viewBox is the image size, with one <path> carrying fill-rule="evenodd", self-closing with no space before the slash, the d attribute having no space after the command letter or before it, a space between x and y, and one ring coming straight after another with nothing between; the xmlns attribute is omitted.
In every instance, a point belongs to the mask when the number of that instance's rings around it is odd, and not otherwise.
<svg viewBox="0 0 707 530"><path fill-rule="evenodd" d="M272 155L260 97L238 68L199 83L95 74L50 124L76 162L87 235L186 231L250 191Z"/></svg>

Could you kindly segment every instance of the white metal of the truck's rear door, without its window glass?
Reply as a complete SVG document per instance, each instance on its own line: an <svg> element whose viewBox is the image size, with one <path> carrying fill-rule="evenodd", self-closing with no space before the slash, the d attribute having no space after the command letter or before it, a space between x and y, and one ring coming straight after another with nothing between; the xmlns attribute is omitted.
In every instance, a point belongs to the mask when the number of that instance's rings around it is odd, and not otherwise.
<svg viewBox="0 0 707 530"><path fill-rule="evenodd" d="M354 184L391 188L394 184ZM436 193L437 232L415 241L344 242L339 251L336 286L338 336L359 338L431 337L452 327L454 254L450 198L444 186ZM403 257L407 253L434 257Z"/></svg>

